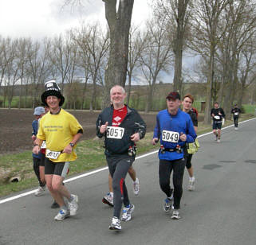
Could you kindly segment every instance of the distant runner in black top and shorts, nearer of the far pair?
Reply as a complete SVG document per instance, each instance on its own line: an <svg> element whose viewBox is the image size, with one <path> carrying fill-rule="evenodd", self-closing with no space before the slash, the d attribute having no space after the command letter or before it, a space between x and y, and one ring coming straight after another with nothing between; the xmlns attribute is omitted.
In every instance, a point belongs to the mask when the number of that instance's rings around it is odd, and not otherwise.
<svg viewBox="0 0 256 245"><path fill-rule="evenodd" d="M215 102L214 108L211 109L211 117L213 119L212 130L216 137L215 140L219 143L223 119L225 120L225 113L223 108L219 107L218 102Z"/></svg>

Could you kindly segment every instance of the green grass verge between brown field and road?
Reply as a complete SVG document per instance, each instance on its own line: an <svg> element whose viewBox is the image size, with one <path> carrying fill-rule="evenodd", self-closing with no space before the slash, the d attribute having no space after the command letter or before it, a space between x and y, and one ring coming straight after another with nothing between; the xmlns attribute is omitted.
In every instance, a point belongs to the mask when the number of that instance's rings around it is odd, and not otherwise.
<svg viewBox="0 0 256 245"><path fill-rule="evenodd" d="M242 120L250 119L253 115L241 116ZM232 120L226 120L225 126L233 124ZM199 122L198 134L204 134L211 131L211 125L203 125ZM144 139L138 144L137 155L144 154L146 152L157 150L159 146L152 146L153 133L148 132ZM84 173L91 169L96 169L102 166L106 166L106 160L104 157L103 140L85 140L79 142L77 146L78 159L73 161L70 165L69 177L73 174ZM3 171L6 174L2 175ZM10 183L10 177L21 177L21 181L16 183ZM14 192L19 192L24 189L30 189L38 185L37 178L33 173L33 161L31 151L25 151L18 154L4 154L0 157L0 196L6 196Z"/></svg>

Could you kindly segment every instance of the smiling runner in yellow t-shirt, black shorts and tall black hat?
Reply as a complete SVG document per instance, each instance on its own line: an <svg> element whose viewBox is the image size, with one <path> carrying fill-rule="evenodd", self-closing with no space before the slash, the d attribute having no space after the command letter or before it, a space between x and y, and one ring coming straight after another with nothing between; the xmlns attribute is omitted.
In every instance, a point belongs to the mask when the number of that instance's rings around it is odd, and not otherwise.
<svg viewBox="0 0 256 245"><path fill-rule="evenodd" d="M54 218L60 221L77 214L78 196L70 194L62 184L69 170L69 162L77 159L74 149L83 134L83 128L73 115L61 109L65 98L55 80L45 83L41 101L49 106L49 113L40 121L33 153L38 154L42 142L46 142L45 181L53 199L60 206ZM65 204L64 197L68 204Z"/></svg>

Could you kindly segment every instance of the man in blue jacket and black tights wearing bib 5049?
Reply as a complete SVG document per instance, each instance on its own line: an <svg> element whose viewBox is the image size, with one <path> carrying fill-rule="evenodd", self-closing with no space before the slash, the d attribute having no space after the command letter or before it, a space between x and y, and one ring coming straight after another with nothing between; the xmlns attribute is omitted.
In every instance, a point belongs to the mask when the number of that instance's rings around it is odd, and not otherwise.
<svg viewBox="0 0 256 245"><path fill-rule="evenodd" d="M186 165L184 148L186 143L195 141L196 134L190 115L179 109L180 95L171 91L167 97L167 109L160 111L156 116L156 127L152 144L160 140L159 150L159 177L160 188L166 194L163 210L169 212L173 200L172 220L179 220L180 200L183 193L183 173ZM174 193L170 187L171 171L173 170Z"/></svg>

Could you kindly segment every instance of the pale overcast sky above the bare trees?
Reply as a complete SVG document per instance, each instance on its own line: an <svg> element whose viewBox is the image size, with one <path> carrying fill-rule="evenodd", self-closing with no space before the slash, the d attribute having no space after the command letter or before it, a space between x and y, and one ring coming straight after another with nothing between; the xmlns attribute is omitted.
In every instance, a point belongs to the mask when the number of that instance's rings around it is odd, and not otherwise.
<svg viewBox="0 0 256 245"><path fill-rule="evenodd" d="M61 8L64 0L0 0L0 35L2 37L53 37L65 29L77 27L82 21L100 21L104 18L102 0L85 0L85 7L73 10ZM132 23L143 25L150 16L148 0L135 0Z"/></svg>

